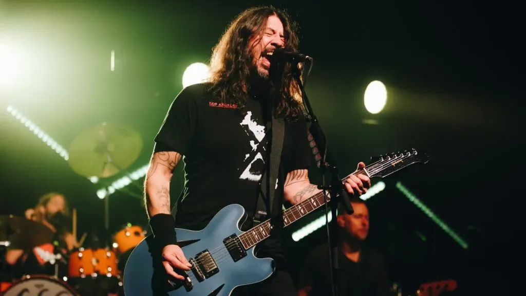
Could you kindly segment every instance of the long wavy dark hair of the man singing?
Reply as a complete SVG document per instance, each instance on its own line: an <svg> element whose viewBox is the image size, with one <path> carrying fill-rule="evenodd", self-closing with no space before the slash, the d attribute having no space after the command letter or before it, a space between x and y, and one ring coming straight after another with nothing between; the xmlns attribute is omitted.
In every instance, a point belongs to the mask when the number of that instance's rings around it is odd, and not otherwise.
<svg viewBox="0 0 526 296"><path fill-rule="evenodd" d="M219 100L244 106L249 96L247 81L252 67L251 51L248 43L251 37L262 34L267 19L276 15L284 27L286 48L298 50L296 24L285 11L271 6L253 7L239 14L229 25L214 47L210 59L210 90ZM301 91L292 75L290 65L285 67L280 85L277 85L278 97L275 102L276 115L295 119L302 114Z"/></svg>

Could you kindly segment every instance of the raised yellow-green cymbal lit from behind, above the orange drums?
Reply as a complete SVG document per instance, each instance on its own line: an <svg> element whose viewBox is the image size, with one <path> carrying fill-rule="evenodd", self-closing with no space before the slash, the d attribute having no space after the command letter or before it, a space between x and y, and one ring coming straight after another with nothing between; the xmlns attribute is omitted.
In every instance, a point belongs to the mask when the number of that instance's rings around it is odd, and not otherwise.
<svg viewBox="0 0 526 296"><path fill-rule="evenodd" d="M75 137L69 146L69 166L85 177L109 177L126 170L139 157L143 139L124 125L103 123Z"/></svg>

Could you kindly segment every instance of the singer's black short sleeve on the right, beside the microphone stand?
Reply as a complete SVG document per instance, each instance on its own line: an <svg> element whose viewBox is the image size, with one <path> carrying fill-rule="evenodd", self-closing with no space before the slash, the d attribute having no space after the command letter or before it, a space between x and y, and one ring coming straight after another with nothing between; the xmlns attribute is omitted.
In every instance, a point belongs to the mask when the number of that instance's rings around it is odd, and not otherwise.
<svg viewBox="0 0 526 296"><path fill-rule="evenodd" d="M290 157L286 161L285 171L308 169L312 161L312 153L307 139L307 121L301 116L296 122L291 123ZM286 135L289 137L289 135Z"/></svg>

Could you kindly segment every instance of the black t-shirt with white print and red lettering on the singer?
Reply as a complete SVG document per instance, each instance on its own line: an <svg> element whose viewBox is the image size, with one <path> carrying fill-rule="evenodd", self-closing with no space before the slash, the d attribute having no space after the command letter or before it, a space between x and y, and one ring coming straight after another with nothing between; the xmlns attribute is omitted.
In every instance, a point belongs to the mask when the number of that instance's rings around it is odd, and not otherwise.
<svg viewBox="0 0 526 296"><path fill-rule="evenodd" d="M177 227L189 230L205 228L219 210L234 203L251 218L268 162L267 100L250 97L243 107L221 103L209 86L184 88L155 137L156 152L184 155L185 186L175 218ZM310 155L305 118L286 121L282 171L307 169Z"/></svg>

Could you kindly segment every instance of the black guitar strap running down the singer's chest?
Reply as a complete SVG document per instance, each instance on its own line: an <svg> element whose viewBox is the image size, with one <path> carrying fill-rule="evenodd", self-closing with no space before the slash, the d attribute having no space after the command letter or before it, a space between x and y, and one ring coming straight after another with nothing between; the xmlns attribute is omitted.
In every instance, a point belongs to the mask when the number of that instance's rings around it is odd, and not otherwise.
<svg viewBox="0 0 526 296"><path fill-rule="evenodd" d="M283 139L285 137L285 120L277 119L272 116L272 142L270 148L270 164L267 166L268 170L261 177L261 193L257 201L256 211L253 219L253 226L263 222L268 218L272 212L281 212L281 202L275 204L276 184L279 175L279 164L281 162L281 150L283 148ZM269 175L267 175L267 173ZM268 200L265 196L268 196ZM278 194L278 196L280 196ZM268 203L267 203L268 202Z"/></svg>

